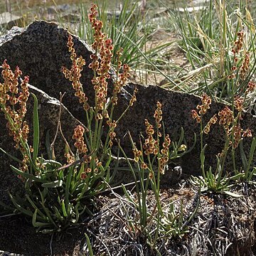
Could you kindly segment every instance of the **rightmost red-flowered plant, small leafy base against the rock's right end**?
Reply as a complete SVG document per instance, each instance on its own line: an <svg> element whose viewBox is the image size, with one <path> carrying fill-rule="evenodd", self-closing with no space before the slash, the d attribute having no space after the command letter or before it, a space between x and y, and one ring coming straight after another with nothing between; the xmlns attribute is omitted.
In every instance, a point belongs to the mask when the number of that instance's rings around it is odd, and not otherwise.
<svg viewBox="0 0 256 256"><path fill-rule="evenodd" d="M237 44L240 42L238 38ZM234 54L238 53L241 46L237 46L236 50L234 50ZM239 48L239 49L238 49ZM233 78L230 78L233 79ZM240 120L242 119L243 110L244 110L244 102L246 100L246 96L248 92L252 92L255 90L255 85L252 85L252 81L248 82L245 96L235 96L233 100L233 106L230 110L230 107L225 106L223 110L220 110L218 114L214 114L213 117L210 118L205 127L203 127L203 115L206 114L207 110L210 108L211 99L208 95L203 94L201 97L202 105L198 105L197 110L192 110L192 118L196 119L196 122L201 125L201 171L203 177L195 178L192 177L192 183L194 184L203 184L202 190L210 190L214 192L224 192L228 193L232 196L237 196L234 193L230 193L229 191L229 181L252 181L252 178L255 173L255 167L252 167L252 159L255 154L256 144L255 138L252 139L252 144L249 152L249 161L247 161L245 153L242 149L242 140L245 137L252 137L252 132L249 128L242 129L240 125ZM217 157L217 166L215 170L215 174L213 174L211 167L208 171L205 171L204 161L205 161L205 150L207 145L203 145L203 134L208 134L210 132L210 127L218 122L221 126L223 126L224 134L225 134L225 144L223 146L223 150L219 152ZM240 146L240 152L242 164L243 166L238 169L235 161L235 149ZM223 177L224 169L225 169L225 161L228 155L228 151L231 150L232 160L233 160L233 172L230 173L230 177L228 178L228 174L226 173ZM232 176L233 175L233 176Z"/></svg>

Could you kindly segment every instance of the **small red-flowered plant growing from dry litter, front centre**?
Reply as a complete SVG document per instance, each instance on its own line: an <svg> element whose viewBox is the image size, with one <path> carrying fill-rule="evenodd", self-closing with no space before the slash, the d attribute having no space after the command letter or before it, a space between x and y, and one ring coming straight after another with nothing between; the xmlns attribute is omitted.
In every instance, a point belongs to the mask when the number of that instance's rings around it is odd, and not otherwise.
<svg viewBox="0 0 256 256"><path fill-rule="evenodd" d="M124 194L128 201L134 206L134 216L128 216L127 226L129 232L136 237L140 236L146 240L146 243L152 250L157 248L159 241L169 238L181 238L187 230L187 223L193 218L196 210L188 217L183 213L182 202L180 212L177 214L174 209L174 202L170 202L169 207L161 203L160 181L161 176L173 170L169 166L171 160L177 159L189 150L183 142L183 129L178 142L171 142L169 134L165 133L162 122L161 103L156 102L154 112L154 124L145 119L145 137L141 137L140 145L137 146L131 135L130 141L134 159L128 159L122 146L120 149L129 164L135 183L136 193L132 195L127 188L123 186ZM134 161L134 164L132 164ZM171 176L171 175L170 175ZM172 178L176 178L172 176ZM171 182L171 181L170 181ZM149 191L153 191L153 198L149 200ZM154 200L154 208L149 206L149 201ZM197 209L197 208L196 208ZM133 221L131 221L133 219Z"/></svg>

